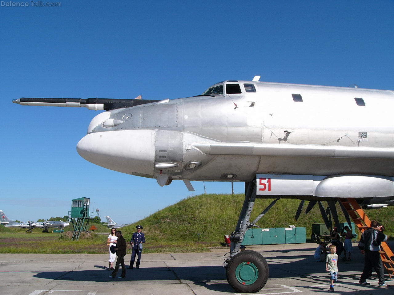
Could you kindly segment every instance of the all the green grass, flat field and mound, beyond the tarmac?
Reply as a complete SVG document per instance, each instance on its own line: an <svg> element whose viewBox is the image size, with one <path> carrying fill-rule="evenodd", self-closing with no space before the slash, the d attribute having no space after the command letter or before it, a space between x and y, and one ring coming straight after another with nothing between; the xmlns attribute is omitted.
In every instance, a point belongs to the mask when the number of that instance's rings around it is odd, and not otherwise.
<svg viewBox="0 0 394 295"><path fill-rule="evenodd" d="M144 253L168 252L204 252L209 247L220 246L223 236L235 229L238 214L244 196L207 194L188 197L168 206L151 216L141 219L121 230L126 241L130 240L136 225L143 225L146 243ZM252 220L271 203L273 199L257 199L253 209ZM298 221L294 220L297 199L281 199L258 222L260 227L306 227L307 238L311 235L311 224L322 223L320 210L316 205L308 215L304 207ZM324 202L323 202L324 203ZM338 207L338 212L341 212ZM368 210L370 219L381 221L387 234L394 237L394 208ZM340 215L340 222L345 219ZM95 224L96 225L96 224ZM96 232L109 232L107 227L96 225ZM93 234L89 239L71 241L61 238L63 235L42 233L42 229L34 229L33 233L4 232L7 228L0 227L0 253L108 253L107 236ZM198 235L199 233L199 235Z"/></svg>

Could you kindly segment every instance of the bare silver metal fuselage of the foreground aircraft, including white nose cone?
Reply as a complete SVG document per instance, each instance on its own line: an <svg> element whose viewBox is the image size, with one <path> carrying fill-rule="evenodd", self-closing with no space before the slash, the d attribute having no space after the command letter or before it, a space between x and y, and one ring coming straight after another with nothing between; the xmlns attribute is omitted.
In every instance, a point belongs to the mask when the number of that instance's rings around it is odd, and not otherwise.
<svg viewBox="0 0 394 295"><path fill-rule="evenodd" d="M253 83L256 92L245 92L244 83ZM237 84L241 94L180 98L101 113L78 143L78 152L105 168L151 178L394 175L392 91ZM292 94L300 94L302 102ZM365 105L357 105L355 98ZM189 168L192 162L197 166Z"/></svg>

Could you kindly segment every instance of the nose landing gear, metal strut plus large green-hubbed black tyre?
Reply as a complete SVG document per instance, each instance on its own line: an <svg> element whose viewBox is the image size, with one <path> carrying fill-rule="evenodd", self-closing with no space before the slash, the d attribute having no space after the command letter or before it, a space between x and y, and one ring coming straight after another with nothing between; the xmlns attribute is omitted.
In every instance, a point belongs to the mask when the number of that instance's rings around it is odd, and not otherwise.
<svg viewBox="0 0 394 295"><path fill-rule="evenodd" d="M241 293L258 292L268 280L268 264L265 258L256 251L240 251L245 232L250 226L255 226L253 223L256 221L249 222L255 200L256 181L245 182L245 201L235 231L230 235L230 257L223 263L223 267L226 267L227 282ZM263 211L259 217L264 214Z"/></svg>

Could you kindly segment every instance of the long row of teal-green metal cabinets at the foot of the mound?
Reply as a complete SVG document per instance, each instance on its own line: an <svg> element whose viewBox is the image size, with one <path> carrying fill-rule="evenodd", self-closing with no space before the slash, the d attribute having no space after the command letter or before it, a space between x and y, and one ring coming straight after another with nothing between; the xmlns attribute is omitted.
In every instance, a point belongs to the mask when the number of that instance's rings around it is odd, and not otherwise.
<svg viewBox="0 0 394 295"><path fill-rule="evenodd" d="M271 227L268 229L247 230L242 245L274 245L306 242L305 227Z"/></svg>

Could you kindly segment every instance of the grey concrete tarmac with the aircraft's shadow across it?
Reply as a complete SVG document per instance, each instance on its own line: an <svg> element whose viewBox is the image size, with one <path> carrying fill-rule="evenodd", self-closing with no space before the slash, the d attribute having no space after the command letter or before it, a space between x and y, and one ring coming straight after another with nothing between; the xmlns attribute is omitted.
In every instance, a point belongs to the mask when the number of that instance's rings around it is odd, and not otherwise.
<svg viewBox="0 0 394 295"><path fill-rule="evenodd" d="M394 243L390 243L394 246ZM385 274L391 288L360 285L364 258L353 244L351 261L338 262L338 282L329 291L325 263L315 262L315 243L248 246L269 264L266 286L253 294L394 294L394 277ZM392 248L393 249L393 248ZM127 269L126 278L109 278L106 254L0 254L1 295L226 295L238 294L227 283L223 256L227 247L209 253L142 254L139 269ZM126 267L130 253L125 257ZM118 272L121 275L121 271Z"/></svg>

